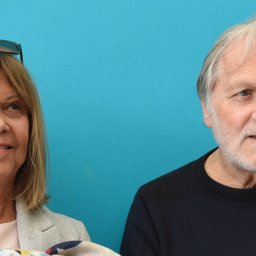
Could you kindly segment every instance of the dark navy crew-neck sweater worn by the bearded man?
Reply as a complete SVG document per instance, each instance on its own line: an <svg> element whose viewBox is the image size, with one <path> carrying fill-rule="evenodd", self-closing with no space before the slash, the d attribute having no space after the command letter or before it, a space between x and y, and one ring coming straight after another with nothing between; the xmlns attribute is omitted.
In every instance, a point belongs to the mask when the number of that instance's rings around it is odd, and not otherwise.
<svg viewBox="0 0 256 256"><path fill-rule="evenodd" d="M122 256L256 255L256 188L212 180L203 166L213 151L139 188Z"/></svg>

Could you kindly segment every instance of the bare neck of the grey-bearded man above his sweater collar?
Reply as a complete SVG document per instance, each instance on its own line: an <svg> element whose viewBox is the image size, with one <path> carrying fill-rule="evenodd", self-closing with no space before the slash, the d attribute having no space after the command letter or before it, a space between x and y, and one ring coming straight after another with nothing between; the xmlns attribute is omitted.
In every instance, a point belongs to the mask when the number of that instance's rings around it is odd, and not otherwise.
<svg viewBox="0 0 256 256"><path fill-rule="evenodd" d="M256 172L234 168L226 160L220 148L207 158L204 169L214 181L231 188L253 188L256 186Z"/></svg>

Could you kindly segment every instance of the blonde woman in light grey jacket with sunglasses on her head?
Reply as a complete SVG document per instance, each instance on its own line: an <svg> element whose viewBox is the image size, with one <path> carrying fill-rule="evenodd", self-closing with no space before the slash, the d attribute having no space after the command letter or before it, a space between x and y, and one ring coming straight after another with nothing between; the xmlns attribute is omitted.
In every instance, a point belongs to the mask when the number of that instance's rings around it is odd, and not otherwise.
<svg viewBox="0 0 256 256"><path fill-rule="evenodd" d="M82 222L43 206L46 154L38 92L21 46L0 40L0 248L44 252L64 241L90 241Z"/></svg>

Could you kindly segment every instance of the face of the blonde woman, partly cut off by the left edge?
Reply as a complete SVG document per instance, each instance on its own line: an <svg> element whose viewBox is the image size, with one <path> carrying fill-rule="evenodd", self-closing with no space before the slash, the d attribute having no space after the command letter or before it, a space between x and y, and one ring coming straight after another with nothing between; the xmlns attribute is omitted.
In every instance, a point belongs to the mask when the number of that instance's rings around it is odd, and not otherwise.
<svg viewBox="0 0 256 256"><path fill-rule="evenodd" d="M28 110L0 70L0 186L12 186L26 159L28 147Z"/></svg>

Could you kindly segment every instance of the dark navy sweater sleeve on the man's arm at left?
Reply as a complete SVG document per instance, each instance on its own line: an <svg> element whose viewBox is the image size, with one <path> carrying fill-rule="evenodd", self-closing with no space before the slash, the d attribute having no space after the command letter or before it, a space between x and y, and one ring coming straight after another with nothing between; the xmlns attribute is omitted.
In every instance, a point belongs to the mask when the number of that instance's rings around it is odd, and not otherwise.
<svg viewBox="0 0 256 256"><path fill-rule="evenodd" d="M122 256L160 256L157 230L147 204L136 194L128 214L120 248Z"/></svg>

